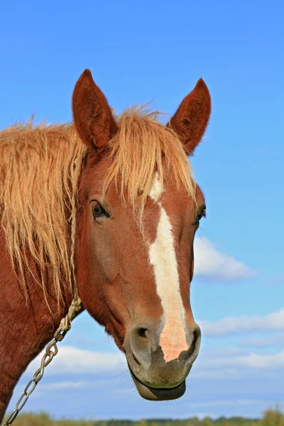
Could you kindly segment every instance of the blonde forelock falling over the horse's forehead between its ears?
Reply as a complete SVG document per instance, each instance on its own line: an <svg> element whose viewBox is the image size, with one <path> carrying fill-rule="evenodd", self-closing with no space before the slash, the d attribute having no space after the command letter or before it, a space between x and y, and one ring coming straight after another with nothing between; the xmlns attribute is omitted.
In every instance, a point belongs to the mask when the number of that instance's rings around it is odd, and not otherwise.
<svg viewBox="0 0 284 426"><path fill-rule="evenodd" d="M156 175L160 187L167 174L177 190L183 186L196 201L195 180L185 148L176 133L158 121L159 114L145 107L126 109L116 117L118 131L109 141L111 165L104 180L104 194L114 182L122 202L127 196L141 219Z"/></svg>

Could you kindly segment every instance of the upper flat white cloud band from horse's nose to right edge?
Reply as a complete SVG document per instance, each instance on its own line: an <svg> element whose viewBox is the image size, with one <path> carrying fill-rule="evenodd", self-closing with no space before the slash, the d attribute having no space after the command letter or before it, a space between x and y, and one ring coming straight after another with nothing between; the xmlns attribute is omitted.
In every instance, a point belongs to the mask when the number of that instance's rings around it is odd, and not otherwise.
<svg viewBox="0 0 284 426"><path fill-rule="evenodd" d="M205 336L225 336L240 332L271 332L284 330L284 308L269 315L225 317L217 322L199 322Z"/></svg>

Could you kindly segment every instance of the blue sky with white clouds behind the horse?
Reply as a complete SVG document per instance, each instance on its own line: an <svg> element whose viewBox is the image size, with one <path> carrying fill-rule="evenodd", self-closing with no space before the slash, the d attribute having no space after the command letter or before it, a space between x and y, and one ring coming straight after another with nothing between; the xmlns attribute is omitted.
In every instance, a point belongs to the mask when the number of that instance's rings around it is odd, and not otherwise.
<svg viewBox="0 0 284 426"><path fill-rule="evenodd" d="M282 1L9 1L0 18L0 128L70 121L85 68L121 111L173 114L202 77L212 116L192 165L207 200L192 309L202 349L180 400L134 390L87 314L60 344L26 410L92 418L261 415L284 408ZM12 403L37 368L33 362Z"/></svg>

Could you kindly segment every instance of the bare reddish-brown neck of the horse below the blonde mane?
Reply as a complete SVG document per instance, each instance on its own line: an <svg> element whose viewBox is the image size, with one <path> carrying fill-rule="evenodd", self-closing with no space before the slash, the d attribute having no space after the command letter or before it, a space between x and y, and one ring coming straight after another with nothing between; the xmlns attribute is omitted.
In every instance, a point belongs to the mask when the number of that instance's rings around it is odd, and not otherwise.
<svg viewBox="0 0 284 426"><path fill-rule="evenodd" d="M62 290L58 307L51 279L46 283L46 300L40 288L40 273L31 261L26 292L16 278L0 227L0 423L18 379L28 364L53 338L60 320L67 314L72 295Z"/></svg>

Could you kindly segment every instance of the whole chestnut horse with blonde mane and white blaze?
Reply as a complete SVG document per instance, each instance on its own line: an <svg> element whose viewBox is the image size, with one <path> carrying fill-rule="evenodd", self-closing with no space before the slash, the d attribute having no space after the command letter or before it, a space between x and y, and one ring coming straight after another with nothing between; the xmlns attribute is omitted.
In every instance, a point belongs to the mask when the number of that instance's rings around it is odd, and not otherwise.
<svg viewBox="0 0 284 426"><path fill-rule="evenodd" d="M200 347L189 295L205 214L188 155L210 105L200 79L166 126L143 108L114 116L85 70L74 124L1 131L0 420L75 290L143 398L183 395Z"/></svg>

